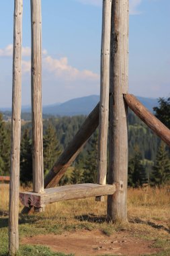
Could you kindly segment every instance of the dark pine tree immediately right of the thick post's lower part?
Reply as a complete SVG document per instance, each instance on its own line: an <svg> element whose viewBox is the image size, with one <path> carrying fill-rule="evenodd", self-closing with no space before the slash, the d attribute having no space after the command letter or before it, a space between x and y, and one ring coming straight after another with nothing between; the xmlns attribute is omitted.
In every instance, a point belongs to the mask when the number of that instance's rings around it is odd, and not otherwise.
<svg viewBox="0 0 170 256"><path fill-rule="evenodd" d="M128 186L139 187L146 183L146 172L141 163L142 157L139 152L128 162Z"/></svg>

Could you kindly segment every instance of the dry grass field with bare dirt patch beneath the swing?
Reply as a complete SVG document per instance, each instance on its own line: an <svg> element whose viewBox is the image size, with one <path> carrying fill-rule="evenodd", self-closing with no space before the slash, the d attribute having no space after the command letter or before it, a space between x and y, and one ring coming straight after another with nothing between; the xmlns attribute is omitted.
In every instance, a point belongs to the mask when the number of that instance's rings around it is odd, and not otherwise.
<svg viewBox="0 0 170 256"><path fill-rule="evenodd" d="M0 185L1 256L7 255L8 197L8 185ZM128 189L128 223L108 223L105 214L106 203L90 198L19 216L18 255L170 255L168 187Z"/></svg>

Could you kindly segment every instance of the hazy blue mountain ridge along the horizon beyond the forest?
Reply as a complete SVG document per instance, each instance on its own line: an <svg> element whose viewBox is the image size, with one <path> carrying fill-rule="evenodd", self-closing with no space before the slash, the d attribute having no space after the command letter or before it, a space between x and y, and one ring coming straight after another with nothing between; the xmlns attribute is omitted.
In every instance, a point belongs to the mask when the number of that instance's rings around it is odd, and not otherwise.
<svg viewBox="0 0 170 256"><path fill-rule="evenodd" d="M137 96L138 100L153 112L153 107L158 106L157 98L144 98ZM98 95L85 96L81 98L74 98L64 103L56 103L52 105L43 106L43 114L45 115L59 115L59 116L74 116L74 115L88 115L91 110L99 102ZM9 111L10 108L0 108L0 111ZM22 113L30 113L30 106L22 106Z"/></svg>

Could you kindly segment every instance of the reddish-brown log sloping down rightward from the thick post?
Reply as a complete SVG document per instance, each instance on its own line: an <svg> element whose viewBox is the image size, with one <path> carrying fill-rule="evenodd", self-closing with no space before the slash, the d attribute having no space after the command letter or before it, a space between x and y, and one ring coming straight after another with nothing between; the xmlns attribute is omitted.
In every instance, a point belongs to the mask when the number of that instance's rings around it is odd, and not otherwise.
<svg viewBox="0 0 170 256"><path fill-rule="evenodd" d="M170 130L149 112L134 95L124 94L124 99L130 109L170 147Z"/></svg>

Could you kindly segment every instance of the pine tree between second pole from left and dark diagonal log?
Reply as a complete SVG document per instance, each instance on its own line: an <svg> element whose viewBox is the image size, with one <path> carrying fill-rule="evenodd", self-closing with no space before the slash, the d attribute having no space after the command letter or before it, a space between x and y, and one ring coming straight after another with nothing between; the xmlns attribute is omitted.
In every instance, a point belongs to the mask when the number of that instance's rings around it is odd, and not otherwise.
<svg viewBox="0 0 170 256"><path fill-rule="evenodd" d="M48 125L43 137L44 172L48 172L61 153L60 144L56 137L56 131L52 125Z"/></svg>

